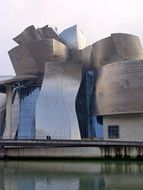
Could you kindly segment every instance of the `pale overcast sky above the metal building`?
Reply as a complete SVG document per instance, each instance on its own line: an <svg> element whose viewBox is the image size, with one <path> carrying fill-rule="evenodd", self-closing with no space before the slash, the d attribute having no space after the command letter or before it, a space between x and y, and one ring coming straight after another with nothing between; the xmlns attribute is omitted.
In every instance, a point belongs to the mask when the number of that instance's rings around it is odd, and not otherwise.
<svg viewBox="0 0 143 190"><path fill-rule="evenodd" d="M139 36L143 44L143 0L0 0L0 75L15 72L8 51L26 27L47 24L58 32L77 24L88 44L111 33Z"/></svg>

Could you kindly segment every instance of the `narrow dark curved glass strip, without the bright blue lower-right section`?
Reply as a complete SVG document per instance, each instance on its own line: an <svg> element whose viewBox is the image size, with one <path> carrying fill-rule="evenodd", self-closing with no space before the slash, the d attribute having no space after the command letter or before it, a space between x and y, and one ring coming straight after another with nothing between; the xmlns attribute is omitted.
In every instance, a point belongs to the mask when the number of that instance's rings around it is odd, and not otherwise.
<svg viewBox="0 0 143 190"><path fill-rule="evenodd" d="M91 119L91 98L94 85L94 72L85 71L76 98L76 112L82 138L95 137Z"/></svg>

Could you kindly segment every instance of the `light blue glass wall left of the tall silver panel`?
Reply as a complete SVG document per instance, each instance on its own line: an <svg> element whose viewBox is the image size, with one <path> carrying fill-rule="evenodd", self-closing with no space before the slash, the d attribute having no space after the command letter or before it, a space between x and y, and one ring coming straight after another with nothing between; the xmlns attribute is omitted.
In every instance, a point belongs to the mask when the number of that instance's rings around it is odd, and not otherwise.
<svg viewBox="0 0 143 190"><path fill-rule="evenodd" d="M35 111L39 92L40 87L35 86L18 89L20 97L18 139L35 138Z"/></svg>

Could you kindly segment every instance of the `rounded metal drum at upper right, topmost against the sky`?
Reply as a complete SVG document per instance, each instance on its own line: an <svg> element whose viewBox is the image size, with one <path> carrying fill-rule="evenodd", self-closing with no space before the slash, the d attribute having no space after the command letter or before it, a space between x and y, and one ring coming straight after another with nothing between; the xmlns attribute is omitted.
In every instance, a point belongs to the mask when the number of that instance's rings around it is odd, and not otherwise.
<svg viewBox="0 0 143 190"><path fill-rule="evenodd" d="M134 35L116 33L92 45L95 67L117 61L143 59L139 38Z"/></svg>

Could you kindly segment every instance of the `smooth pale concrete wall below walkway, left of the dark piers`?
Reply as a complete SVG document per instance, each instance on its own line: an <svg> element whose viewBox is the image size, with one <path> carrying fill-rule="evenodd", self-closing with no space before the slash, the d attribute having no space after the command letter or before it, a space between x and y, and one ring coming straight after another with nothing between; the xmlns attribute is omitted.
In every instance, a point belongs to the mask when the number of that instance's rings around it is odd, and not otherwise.
<svg viewBox="0 0 143 190"><path fill-rule="evenodd" d="M98 147L23 147L7 149L5 156L21 158L96 158L101 157L101 150Z"/></svg>

